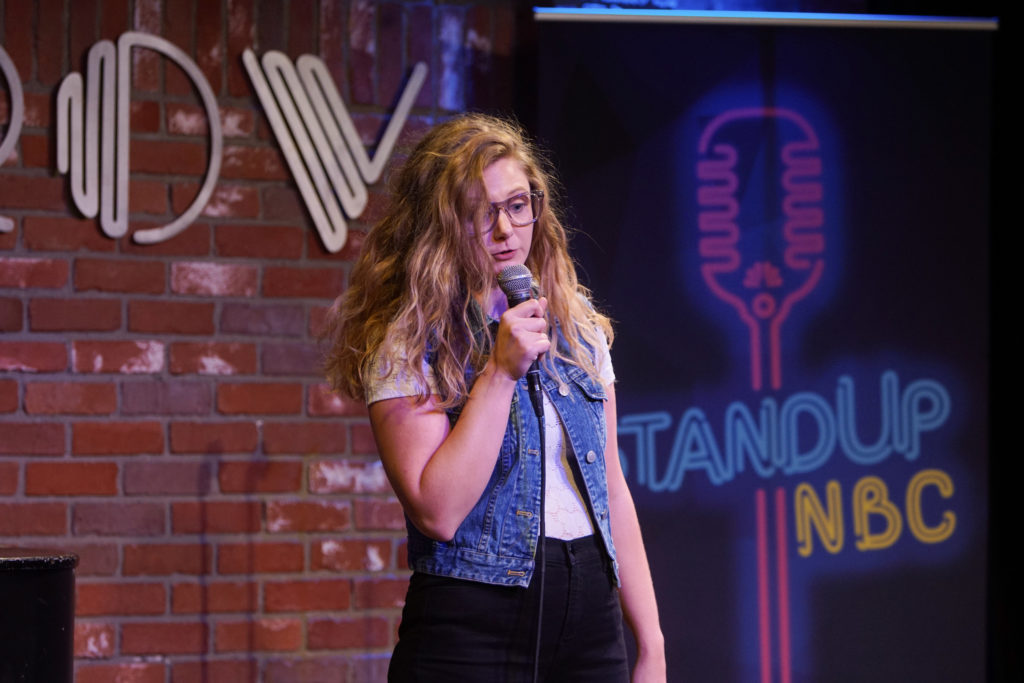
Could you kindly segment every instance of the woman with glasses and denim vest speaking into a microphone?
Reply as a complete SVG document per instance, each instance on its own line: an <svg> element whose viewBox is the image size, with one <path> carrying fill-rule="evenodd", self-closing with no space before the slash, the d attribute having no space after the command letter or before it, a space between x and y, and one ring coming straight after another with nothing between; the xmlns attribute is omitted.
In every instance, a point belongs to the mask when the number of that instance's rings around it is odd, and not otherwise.
<svg viewBox="0 0 1024 683"><path fill-rule="evenodd" d="M408 519L392 681L622 682L623 614L633 680L665 680L618 462L611 329L577 282L551 185L515 125L438 125L397 172L330 315L328 377L369 403ZM546 296L509 308L497 284L509 265ZM523 380L539 358L544 420Z"/></svg>

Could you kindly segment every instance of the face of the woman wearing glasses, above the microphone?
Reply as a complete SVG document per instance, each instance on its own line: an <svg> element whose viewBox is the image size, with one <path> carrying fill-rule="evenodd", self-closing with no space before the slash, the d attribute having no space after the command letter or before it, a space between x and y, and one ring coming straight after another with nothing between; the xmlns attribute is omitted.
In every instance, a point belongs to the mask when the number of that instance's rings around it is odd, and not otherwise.
<svg viewBox="0 0 1024 683"><path fill-rule="evenodd" d="M518 161L499 159L483 169L483 189L486 202L504 202L510 197L528 193L529 179ZM494 229L483 236L483 248L492 259L495 274L509 265L523 265L532 241L534 223L517 227L509 222L505 211L498 211Z"/></svg>

